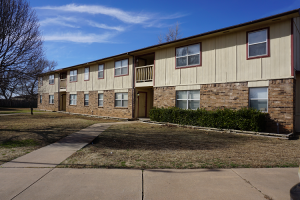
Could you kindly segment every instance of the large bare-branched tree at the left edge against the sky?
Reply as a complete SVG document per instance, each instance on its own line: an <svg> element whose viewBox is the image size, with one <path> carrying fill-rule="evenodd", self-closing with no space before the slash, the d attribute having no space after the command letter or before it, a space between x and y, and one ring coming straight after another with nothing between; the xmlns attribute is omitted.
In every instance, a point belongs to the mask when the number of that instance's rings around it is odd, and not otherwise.
<svg viewBox="0 0 300 200"><path fill-rule="evenodd" d="M44 57L38 18L26 0L0 0L0 95L11 98L18 80Z"/></svg>

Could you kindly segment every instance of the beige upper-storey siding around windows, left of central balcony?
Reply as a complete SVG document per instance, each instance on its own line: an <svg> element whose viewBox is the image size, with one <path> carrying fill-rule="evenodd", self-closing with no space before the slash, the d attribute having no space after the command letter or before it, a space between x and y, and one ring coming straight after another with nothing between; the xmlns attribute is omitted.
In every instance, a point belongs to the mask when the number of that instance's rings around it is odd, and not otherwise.
<svg viewBox="0 0 300 200"><path fill-rule="evenodd" d="M77 71L77 82L70 83L70 71L68 71L67 92L74 91L95 91L132 88L132 58L129 57L129 75L114 76L115 61L109 61L104 64L104 78L98 79L98 64L90 65L90 79L84 81L84 68Z"/></svg>

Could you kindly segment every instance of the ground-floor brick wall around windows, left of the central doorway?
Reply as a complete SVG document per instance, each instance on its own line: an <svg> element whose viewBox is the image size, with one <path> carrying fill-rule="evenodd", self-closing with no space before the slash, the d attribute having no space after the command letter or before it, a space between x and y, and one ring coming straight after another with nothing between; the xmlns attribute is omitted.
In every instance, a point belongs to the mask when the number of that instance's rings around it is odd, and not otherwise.
<svg viewBox="0 0 300 200"><path fill-rule="evenodd" d="M132 118L132 89L128 90L128 107L115 107L114 90L103 92L103 107L98 107L98 91L89 92L89 105L84 106L84 92L77 92L77 105L69 105L70 93L67 93L66 111L72 113L82 113L99 116Z"/></svg>

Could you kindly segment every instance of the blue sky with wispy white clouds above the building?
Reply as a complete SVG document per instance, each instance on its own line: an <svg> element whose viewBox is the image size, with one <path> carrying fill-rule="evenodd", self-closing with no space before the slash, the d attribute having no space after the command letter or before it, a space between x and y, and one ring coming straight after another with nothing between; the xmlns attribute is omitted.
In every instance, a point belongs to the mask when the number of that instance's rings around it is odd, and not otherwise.
<svg viewBox="0 0 300 200"><path fill-rule="evenodd" d="M29 0L56 69L158 43L176 23L181 38L300 8L300 0Z"/></svg>

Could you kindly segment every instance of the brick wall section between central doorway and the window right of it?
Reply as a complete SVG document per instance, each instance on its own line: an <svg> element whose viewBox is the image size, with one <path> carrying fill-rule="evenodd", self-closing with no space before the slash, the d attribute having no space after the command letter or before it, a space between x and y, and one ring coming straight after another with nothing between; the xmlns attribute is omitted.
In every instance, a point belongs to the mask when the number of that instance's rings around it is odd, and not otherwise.
<svg viewBox="0 0 300 200"><path fill-rule="evenodd" d="M175 87L155 87L153 88L154 107L174 107L176 105Z"/></svg>

